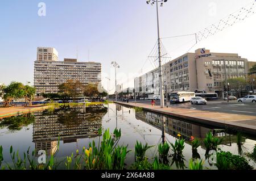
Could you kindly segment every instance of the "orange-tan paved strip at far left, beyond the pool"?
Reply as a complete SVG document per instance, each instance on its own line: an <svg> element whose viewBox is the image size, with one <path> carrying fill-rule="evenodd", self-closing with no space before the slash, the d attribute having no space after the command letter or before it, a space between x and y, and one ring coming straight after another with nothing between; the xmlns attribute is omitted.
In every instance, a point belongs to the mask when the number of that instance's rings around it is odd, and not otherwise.
<svg viewBox="0 0 256 181"><path fill-rule="evenodd" d="M47 109L48 106L42 105L35 105L35 106L28 106L28 107L0 107L0 119L3 117L14 116L19 113L28 113L28 112L35 112L40 110Z"/></svg>

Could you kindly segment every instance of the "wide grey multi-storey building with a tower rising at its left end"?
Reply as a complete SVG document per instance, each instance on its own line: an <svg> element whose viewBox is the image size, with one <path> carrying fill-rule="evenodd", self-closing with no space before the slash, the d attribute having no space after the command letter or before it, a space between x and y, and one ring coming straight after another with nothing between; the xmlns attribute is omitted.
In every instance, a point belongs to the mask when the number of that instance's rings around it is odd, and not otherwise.
<svg viewBox="0 0 256 181"><path fill-rule="evenodd" d="M40 59L39 50L54 48L38 48L38 60L34 62L34 86L36 94L57 93L58 86L69 79L80 81L83 85L101 82L101 64L98 62L78 62L77 59L64 58L64 61Z"/></svg>

